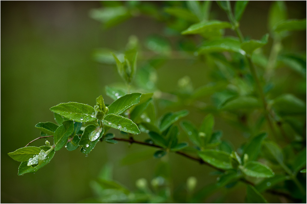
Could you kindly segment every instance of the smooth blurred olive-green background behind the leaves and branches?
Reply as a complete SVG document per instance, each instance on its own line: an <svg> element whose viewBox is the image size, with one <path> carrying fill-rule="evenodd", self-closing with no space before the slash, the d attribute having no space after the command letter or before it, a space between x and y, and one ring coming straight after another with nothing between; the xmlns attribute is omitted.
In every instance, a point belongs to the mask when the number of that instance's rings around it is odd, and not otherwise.
<svg viewBox="0 0 307 204"><path fill-rule="evenodd" d="M161 6L163 2L152 2ZM271 2L252 1L247 6L241 30L244 35L260 39L267 33L266 19ZM306 2L286 2L290 18L306 17ZM98 143L85 157L79 150L57 152L54 159L39 172L17 176L19 162L7 153L25 146L39 137L34 128L38 122L53 122L49 108L60 102L76 101L95 105L95 98L103 95L106 103L112 102L104 91L106 85L122 82L115 67L101 65L93 60L96 48L122 49L131 35L142 44L146 37L164 31L165 24L149 17L136 17L104 30L102 25L89 17L89 11L101 7L100 2L1 2L1 202L2 203L74 203L91 197L90 181L107 163L114 166L114 179L129 189L135 181L153 178L157 159L137 164L121 165L121 160L133 152L152 151L148 147L119 143ZM212 3L217 19L227 20L216 3ZM234 35L231 30L226 35ZM289 42L296 50L306 50L306 33L296 32ZM270 47L267 46L266 49ZM139 62L142 64L142 61ZM203 64L189 60L168 60L157 70L157 86L164 92L176 90L178 79L188 75L194 87L208 80ZM171 76L171 77L170 77ZM174 109L174 111L179 109ZM189 109L186 119L200 124L204 114ZM165 110L158 110L160 117ZM223 130L223 137L231 140L235 148L246 140L229 124L216 118L215 129ZM119 132L114 132L119 135ZM145 135L137 139L143 140ZM146 136L147 137L147 136ZM181 136L185 137L185 136ZM235 138L235 140L233 139ZM35 141L41 146L45 140ZM237 145L237 146L236 146ZM164 158L171 167L173 187L179 187L189 176L198 180L197 188L215 181L209 167L201 166L178 155ZM228 203L244 202L245 187L239 184L230 191L219 191L207 202L221 194ZM229 195L229 196L227 196ZM236 195L236 196L233 196ZM242 195L242 196L239 196ZM276 201L280 202L280 201Z"/></svg>

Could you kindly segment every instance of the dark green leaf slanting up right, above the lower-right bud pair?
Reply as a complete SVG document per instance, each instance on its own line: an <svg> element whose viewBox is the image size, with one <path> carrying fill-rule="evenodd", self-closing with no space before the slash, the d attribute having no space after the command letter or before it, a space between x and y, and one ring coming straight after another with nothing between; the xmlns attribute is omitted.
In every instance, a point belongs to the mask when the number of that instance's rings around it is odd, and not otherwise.
<svg viewBox="0 0 307 204"><path fill-rule="evenodd" d="M244 154L248 155L249 161L254 161L257 159L260 152L262 141L267 137L266 133L261 133L254 137L245 147L242 154L242 159Z"/></svg>

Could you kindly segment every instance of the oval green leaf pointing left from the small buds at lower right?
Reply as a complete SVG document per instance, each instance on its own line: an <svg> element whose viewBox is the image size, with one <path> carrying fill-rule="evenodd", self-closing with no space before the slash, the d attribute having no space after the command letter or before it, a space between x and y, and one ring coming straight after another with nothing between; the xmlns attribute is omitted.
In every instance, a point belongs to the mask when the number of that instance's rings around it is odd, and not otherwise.
<svg viewBox="0 0 307 204"><path fill-rule="evenodd" d="M231 163L227 152L220 150L206 149L201 152L198 152L198 156L205 162L220 168L220 169L231 169Z"/></svg>

